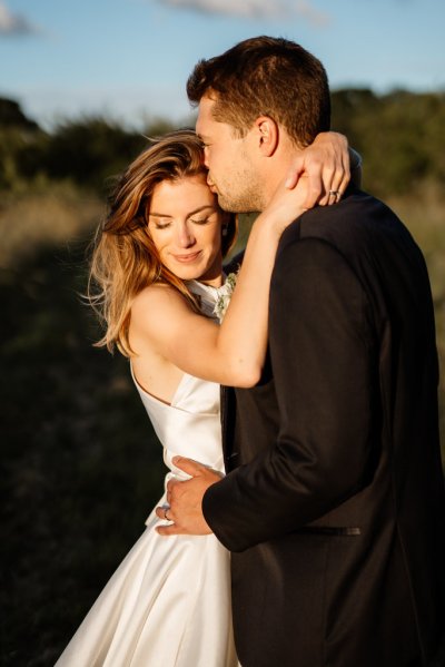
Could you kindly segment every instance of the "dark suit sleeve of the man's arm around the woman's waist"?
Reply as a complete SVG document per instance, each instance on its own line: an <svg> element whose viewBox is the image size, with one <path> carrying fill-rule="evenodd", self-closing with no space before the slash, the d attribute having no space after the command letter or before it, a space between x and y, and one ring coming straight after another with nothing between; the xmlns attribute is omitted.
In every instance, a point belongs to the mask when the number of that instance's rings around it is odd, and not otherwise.
<svg viewBox="0 0 445 667"><path fill-rule="evenodd" d="M280 248L269 311L279 432L202 502L207 522L231 551L297 530L366 484L378 373L369 312L335 247L309 238Z"/></svg>

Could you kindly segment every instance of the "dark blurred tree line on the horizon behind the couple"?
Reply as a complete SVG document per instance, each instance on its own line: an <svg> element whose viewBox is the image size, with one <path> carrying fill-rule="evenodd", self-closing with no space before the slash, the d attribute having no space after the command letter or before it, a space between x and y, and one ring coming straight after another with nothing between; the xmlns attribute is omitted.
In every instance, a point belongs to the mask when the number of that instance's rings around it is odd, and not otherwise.
<svg viewBox="0 0 445 667"><path fill-rule="evenodd" d="M333 92L332 127L364 158L366 189L378 196L405 194L425 182L445 180L445 92L369 89ZM0 99L0 189L37 178L70 179L102 192L109 176L174 124L158 119L140 131L106 117L60 121L46 131L20 106Z"/></svg>

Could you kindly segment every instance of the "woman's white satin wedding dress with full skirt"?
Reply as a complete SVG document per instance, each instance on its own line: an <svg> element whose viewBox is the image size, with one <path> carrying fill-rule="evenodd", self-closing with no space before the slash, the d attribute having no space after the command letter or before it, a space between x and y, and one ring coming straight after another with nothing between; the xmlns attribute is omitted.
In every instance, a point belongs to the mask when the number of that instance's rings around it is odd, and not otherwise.
<svg viewBox="0 0 445 667"><path fill-rule="evenodd" d="M211 316L220 290L190 286ZM164 445L166 481L186 477L171 463L176 454L222 471L218 384L185 374L171 404L137 388ZM160 537L159 522L152 511L57 667L238 666L228 551L212 534Z"/></svg>

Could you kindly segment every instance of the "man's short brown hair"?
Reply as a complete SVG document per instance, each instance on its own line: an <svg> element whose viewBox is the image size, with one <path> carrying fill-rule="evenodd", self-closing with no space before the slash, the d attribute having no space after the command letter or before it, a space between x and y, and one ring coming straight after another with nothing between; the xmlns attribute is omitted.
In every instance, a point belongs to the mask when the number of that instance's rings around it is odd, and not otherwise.
<svg viewBox="0 0 445 667"><path fill-rule="evenodd" d="M209 60L187 82L191 102L207 95L214 118L245 136L260 116L279 122L296 146L312 144L330 126L330 96L322 62L299 45L254 37Z"/></svg>

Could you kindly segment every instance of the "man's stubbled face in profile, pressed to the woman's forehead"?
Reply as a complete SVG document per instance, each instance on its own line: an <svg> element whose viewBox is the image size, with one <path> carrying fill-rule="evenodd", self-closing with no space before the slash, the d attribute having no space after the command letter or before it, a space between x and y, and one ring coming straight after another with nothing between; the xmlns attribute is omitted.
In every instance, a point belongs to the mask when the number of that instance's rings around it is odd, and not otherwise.
<svg viewBox="0 0 445 667"><path fill-rule="evenodd" d="M204 96L199 102L196 133L204 144L207 183L217 194L219 206L233 213L261 210L263 187L256 169L254 130L238 137L234 127L215 120L215 101Z"/></svg>

